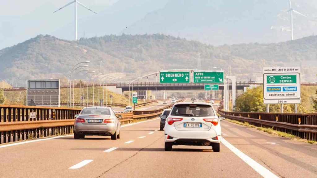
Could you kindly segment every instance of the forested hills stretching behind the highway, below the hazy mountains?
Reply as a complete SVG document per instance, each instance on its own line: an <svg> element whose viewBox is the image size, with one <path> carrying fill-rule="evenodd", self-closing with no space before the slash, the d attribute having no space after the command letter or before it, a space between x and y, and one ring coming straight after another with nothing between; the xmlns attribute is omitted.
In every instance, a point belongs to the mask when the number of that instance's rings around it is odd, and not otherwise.
<svg viewBox="0 0 317 178"><path fill-rule="evenodd" d="M237 80L261 77L261 61L266 66L301 65L303 81L316 81L317 36L271 44L212 46L166 35L106 35L67 41L38 35L0 50L0 76L6 79L67 76L80 61L90 60L88 69L122 73L128 79L160 69L222 67ZM104 71L103 71L104 70ZM131 75L133 74L133 75Z"/></svg>

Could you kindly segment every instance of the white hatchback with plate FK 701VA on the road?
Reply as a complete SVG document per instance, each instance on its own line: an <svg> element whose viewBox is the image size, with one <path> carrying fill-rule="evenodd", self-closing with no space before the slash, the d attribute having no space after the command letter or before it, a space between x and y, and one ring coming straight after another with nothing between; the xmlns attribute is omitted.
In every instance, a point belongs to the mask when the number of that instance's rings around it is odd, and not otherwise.
<svg viewBox="0 0 317 178"><path fill-rule="evenodd" d="M176 103L170 114L162 115L165 123L165 151L173 145L212 146L220 151L220 120L212 105L202 102Z"/></svg>

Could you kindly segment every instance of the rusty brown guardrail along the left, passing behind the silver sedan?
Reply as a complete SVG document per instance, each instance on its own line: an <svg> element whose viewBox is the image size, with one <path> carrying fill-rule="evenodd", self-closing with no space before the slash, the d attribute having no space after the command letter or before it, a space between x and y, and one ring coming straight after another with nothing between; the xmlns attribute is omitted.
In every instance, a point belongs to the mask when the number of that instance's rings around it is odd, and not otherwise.
<svg viewBox="0 0 317 178"><path fill-rule="evenodd" d="M133 120L158 117L164 109L116 113L121 124ZM22 105L0 105L0 144L20 140L73 133L74 118L81 109L60 107L39 107Z"/></svg>

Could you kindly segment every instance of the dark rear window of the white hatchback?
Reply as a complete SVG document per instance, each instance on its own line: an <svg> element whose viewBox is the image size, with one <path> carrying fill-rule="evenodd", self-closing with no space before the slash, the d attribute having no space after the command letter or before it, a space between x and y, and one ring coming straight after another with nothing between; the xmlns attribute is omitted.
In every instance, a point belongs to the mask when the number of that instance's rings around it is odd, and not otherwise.
<svg viewBox="0 0 317 178"><path fill-rule="evenodd" d="M210 105L183 104L175 105L171 111L172 116L185 117L212 117L215 113Z"/></svg>

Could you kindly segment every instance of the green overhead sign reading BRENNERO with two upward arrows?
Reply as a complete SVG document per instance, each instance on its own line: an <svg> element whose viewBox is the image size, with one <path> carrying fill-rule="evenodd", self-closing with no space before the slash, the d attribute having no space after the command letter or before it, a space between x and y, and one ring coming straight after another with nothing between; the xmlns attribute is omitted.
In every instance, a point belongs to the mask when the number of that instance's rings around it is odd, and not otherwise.
<svg viewBox="0 0 317 178"><path fill-rule="evenodd" d="M189 72L160 72L160 83L189 83Z"/></svg>

